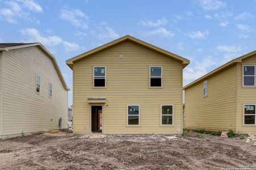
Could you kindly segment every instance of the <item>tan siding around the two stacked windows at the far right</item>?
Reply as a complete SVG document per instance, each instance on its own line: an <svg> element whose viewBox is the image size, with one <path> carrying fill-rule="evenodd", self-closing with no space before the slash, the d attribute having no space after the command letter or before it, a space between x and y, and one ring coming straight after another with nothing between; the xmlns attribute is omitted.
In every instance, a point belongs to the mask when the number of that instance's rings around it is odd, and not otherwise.
<svg viewBox="0 0 256 170"><path fill-rule="evenodd" d="M242 87L242 65L255 65L256 55L247 57L237 63L237 128L238 133L256 134L255 125L243 125L243 104L256 104L256 87Z"/></svg>

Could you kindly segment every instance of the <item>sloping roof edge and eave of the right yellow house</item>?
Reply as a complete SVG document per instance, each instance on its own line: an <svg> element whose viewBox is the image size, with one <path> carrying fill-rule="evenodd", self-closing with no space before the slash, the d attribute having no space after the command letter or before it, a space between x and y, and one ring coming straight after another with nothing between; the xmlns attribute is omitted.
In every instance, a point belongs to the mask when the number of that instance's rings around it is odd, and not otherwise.
<svg viewBox="0 0 256 170"><path fill-rule="evenodd" d="M194 84L200 82L201 80L207 79L209 76L212 76L212 75L214 75L214 74L216 74L216 73L226 69L229 66L232 66L234 63L242 62L242 59L245 59L247 57L253 56L254 54L256 54L256 50L253 51L253 52L247 53L247 54L245 54L243 56L240 56L240 57L237 57L235 59L232 59L232 61L229 61L229 62L225 63L224 65L218 67L217 69L214 69L213 71L210 71L210 73L205 74L204 76L201 76L199 79L196 79L195 81L189 83L187 86L184 86L183 90L193 86Z"/></svg>

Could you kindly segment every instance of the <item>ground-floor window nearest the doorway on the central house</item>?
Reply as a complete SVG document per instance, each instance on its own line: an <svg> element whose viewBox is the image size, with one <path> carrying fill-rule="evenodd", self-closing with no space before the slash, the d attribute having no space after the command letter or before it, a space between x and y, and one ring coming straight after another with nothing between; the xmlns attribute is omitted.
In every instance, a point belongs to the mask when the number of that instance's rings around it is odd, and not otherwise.
<svg viewBox="0 0 256 170"><path fill-rule="evenodd" d="M128 125L139 125L139 105L128 105Z"/></svg>

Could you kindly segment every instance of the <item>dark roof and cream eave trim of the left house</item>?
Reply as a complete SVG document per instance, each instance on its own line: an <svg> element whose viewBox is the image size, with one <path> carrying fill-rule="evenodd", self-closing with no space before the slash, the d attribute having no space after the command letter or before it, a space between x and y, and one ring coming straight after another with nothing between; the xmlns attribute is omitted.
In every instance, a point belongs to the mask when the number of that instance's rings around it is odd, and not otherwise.
<svg viewBox="0 0 256 170"><path fill-rule="evenodd" d="M51 61L57 71L57 74L60 77L61 83L63 84L63 87L65 88L65 90L70 90L70 88L68 88L63 75L61 74L60 71L60 67L57 64L57 61L55 59L54 56L52 56L52 54L39 42L34 42L34 43L0 43L0 51L6 51L8 52L9 50L12 49L19 49L19 48L26 48L28 46L38 46L45 54L47 54L47 56L49 56L49 58L51 58Z"/></svg>

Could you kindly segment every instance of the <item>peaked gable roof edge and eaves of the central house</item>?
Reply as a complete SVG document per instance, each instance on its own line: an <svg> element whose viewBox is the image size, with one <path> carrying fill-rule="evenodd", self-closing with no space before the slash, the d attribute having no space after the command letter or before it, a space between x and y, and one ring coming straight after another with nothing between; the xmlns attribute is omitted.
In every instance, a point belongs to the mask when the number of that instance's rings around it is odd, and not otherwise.
<svg viewBox="0 0 256 170"><path fill-rule="evenodd" d="M135 37L132 37L130 35L126 35L126 36L123 36L117 40L114 40L114 41L111 41L105 45L102 45L102 46L99 46L98 48L94 48L92 50L89 50L88 52L85 52L85 53L82 53L80 54L79 56L76 56L76 57L73 57L71 59L68 59L66 61L67 65L73 69L73 62L75 61L78 61L79 59L82 59L82 58L85 58L85 57L88 57L94 53L97 53L97 52L100 52L101 50L104 50L104 49L107 49L107 48L110 48L111 46L114 46L114 45L117 45L123 41L132 41L132 42L135 42L139 45L142 45L142 46L145 46L146 48L148 49L151 49L151 50L154 50L155 52L158 52L158 53L161 53L161 54L164 54L165 56L168 56L168 57L171 57L171 58L174 58L174 59L177 59L178 61L181 61L182 62L182 66L183 68L185 66L187 66L189 64L189 59L186 59L186 58L183 58L183 57L180 57L174 53L171 53L171 52L168 52L167 50L164 50L162 48L159 48L155 45L152 45L152 44L149 44L145 41L142 41L142 40L139 40L139 39L136 39Z"/></svg>

